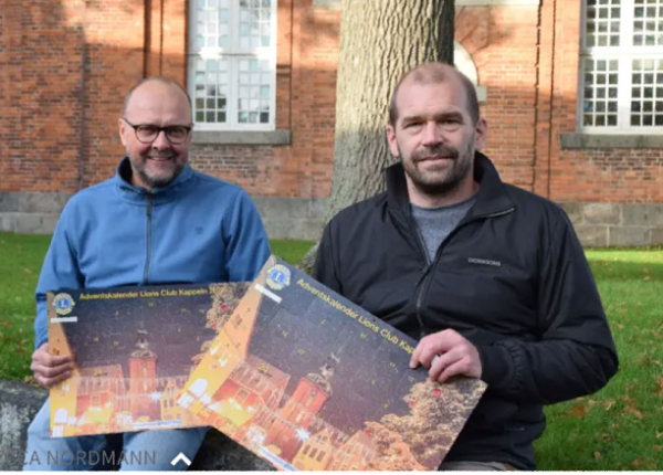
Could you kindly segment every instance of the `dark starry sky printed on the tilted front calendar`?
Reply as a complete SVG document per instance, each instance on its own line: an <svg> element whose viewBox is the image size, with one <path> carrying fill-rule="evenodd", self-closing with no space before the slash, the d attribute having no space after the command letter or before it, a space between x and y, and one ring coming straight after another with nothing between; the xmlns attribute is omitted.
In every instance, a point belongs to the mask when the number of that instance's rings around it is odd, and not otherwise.
<svg viewBox="0 0 663 475"><path fill-rule="evenodd" d="M286 389L288 395L295 391L302 377L320 373L319 368L335 353L340 361L330 378L333 395L319 415L346 434L362 430L365 421L379 421L387 413L409 413L402 398L412 387L410 378L424 381L428 372L411 370L410 355L398 345L298 286L297 281L305 278L312 286L324 288L298 271L291 270L291 285L283 291L272 291L283 297L282 303L263 297L249 352L291 374ZM332 291L324 292L346 307L368 316ZM375 317L371 319L377 320L380 328L386 327ZM396 329L390 331L415 346L413 340ZM389 408L385 409L385 404ZM352 410L348 411L348 408Z"/></svg>

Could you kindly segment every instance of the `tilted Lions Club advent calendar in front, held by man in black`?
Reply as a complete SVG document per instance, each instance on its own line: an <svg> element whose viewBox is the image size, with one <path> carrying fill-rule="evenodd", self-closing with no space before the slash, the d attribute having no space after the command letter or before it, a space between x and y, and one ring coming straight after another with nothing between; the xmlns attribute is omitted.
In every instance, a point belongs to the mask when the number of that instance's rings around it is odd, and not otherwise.
<svg viewBox="0 0 663 475"><path fill-rule="evenodd" d="M179 404L284 471L434 471L485 384L433 383L415 341L272 256Z"/></svg>

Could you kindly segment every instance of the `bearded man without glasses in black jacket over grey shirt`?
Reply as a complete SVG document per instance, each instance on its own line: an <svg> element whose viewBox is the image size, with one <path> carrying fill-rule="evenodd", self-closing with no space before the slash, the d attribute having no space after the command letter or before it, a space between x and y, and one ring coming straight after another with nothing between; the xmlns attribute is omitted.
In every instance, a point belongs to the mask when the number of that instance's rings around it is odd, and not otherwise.
<svg viewBox="0 0 663 475"><path fill-rule="evenodd" d="M387 191L330 221L314 277L419 340L412 369L488 383L441 469L534 469L543 405L599 390L618 359L571 223L501 181L478 151L486 134L454 67L406 74Z"/></svg>

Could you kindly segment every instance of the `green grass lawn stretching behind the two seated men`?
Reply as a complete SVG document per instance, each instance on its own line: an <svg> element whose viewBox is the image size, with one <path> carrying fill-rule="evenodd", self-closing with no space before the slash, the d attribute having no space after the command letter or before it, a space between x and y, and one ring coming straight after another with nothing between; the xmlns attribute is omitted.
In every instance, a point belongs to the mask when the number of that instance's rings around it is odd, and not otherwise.
<svg viewBox="0 0 663 475"><path fill-rule="evenodd" d="M32 352L33 292L50 236L0 233L0 379L23 380ZM273 241L294 263L311 243ZM591 397L547 408L541 471L663 468L663 249L588 250L620 372Z"/></svg>

